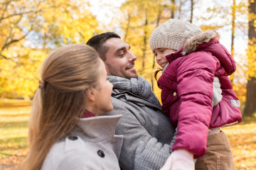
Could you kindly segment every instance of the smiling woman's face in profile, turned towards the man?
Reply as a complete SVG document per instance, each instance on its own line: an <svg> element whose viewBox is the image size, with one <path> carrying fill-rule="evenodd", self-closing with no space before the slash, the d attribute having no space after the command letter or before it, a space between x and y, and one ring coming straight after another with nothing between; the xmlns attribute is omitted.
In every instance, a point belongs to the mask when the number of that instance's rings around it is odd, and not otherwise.
<svg viewBox="0 0 256 170"><path fill-rule="evenodd" d="M95 101L98 114L102 115L113 110L111 94L113 85L107 80L105 64L100 60L100 77L96 88Z"/></svg>

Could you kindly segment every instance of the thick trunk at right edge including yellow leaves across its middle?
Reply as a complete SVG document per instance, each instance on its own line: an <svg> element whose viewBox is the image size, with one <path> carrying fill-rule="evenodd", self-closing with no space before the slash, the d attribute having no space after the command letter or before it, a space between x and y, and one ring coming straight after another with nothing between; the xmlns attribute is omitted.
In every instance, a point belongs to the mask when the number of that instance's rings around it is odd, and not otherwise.
<svg viewBox="0 0 256 170"><path fill-rule="evenodd" d="M248 80L244 115L256 113L256 1L249 0Z"/></svg>

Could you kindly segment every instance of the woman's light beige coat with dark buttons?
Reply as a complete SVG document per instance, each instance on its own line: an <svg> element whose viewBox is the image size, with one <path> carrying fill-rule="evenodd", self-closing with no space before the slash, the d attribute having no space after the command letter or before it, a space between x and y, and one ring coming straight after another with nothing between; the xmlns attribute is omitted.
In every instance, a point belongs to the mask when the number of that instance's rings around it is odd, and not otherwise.
<svg viewBox="0 0 256 170"><path fill-rule="evenodd" d="M78 127L53 145L42 170L119 169L123 137L114 135L121 115L82 118Z"/></svg>

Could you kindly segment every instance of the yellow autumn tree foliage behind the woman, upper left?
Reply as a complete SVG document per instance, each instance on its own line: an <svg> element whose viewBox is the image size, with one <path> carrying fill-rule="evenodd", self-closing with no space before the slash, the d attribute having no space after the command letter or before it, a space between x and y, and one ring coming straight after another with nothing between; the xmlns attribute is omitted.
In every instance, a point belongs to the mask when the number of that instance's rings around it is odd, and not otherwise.
<svg viewBox="0 0 256 170"><path fill-rule="evenodd" d="M4 0L0 4L0 96L33 96L48 53L97 33L86 1Z"/></svg>

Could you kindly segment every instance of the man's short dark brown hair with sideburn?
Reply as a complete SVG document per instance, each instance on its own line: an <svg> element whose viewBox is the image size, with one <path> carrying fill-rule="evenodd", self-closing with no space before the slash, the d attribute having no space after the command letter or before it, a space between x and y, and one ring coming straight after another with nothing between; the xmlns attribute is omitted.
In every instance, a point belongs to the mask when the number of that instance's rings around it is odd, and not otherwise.
<svg viewBox="0 0 256 170"><path fill-rule="evenodd" d="M93 47L99 53L100 58L105 61L109 47L105 46L104 43L110 38L120 38L120 36L114 32L102 33L90 38L90 40L86 42L86 45Z"/></svg>

